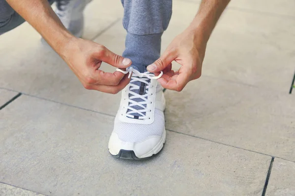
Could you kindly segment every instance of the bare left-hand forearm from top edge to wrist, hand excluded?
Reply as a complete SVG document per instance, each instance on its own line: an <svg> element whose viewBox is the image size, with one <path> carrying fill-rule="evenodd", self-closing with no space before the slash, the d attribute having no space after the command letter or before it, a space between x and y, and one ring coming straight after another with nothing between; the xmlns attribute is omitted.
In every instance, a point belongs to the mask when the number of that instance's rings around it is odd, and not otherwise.
<svg viewBox="0 0 295 196"><path fill-rule="evenodd" d="M60 54L73 36L62 25L47 0L6 0Z"/></svg>

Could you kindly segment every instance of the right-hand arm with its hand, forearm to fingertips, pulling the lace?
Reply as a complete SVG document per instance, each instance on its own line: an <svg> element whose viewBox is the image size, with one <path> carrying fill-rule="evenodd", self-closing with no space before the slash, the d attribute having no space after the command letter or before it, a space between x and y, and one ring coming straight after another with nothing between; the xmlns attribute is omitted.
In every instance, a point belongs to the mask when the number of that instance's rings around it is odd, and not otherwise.
<svg viewBox="0 0 295 196"><path fill-rule="evenodd" d="M201 76L207 41L229 2L202 0L189 27L172 41L159 59L148 66L151 73L164 72L158 79L164 88L181 91L189 81ZM181 65L177 72L171 70L174 60Z"/></svg>

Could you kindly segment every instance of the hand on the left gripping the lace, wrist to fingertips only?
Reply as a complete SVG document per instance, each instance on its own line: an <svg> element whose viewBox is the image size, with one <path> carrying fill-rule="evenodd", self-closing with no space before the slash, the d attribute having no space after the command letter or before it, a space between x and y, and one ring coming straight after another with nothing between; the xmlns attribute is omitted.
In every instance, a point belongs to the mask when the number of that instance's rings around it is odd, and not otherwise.
<svg viewBox="0 0 295 196"><path fill-rule="evenodd" d="M99 70L102 62L124 70L131 65L131 60L123 58L95 42L71 38L59 55L86 89L117 94L130 81L128 74L105 73Z"/></svg>

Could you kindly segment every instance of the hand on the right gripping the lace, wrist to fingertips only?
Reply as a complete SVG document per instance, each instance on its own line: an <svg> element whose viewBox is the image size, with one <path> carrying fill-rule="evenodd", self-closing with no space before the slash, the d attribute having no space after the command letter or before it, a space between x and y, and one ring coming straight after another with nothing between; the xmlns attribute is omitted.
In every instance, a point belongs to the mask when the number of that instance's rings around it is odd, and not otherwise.
<svg viewBox="0 0 295 196"><path fill-rule="evenodd" d="M159 59L148 66L148 71L163 71L158 79L160 84L166 89L181 91L189 81L201 76L205 50L206 43L202 43L201 36L187 29L172 41ZM181 65L177 72L172 70L174 60Z"/></svg>

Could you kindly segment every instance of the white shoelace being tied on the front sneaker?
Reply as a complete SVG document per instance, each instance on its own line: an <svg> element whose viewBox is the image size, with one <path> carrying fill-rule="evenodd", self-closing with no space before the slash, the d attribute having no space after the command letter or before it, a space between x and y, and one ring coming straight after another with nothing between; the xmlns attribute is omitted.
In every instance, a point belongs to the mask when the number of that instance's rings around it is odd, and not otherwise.
<svg viewBox="0 0 295 196"><path fill-rule="evenodd" d="M148 92L148 89L153 88L153 86L150 85L150 82L148 82L148 80L160 78L163 75L163 72L161 71L161 73L158 76L155 76L153 73L149 73L149 72L140 73L139 71L133 69L132 67L128 68L126 71L123 71L120 69L117 69L116 71L124 73L124 74L129 73L128 78L130 78L131 74L132 74L131 81L129 83L129 88L126 90L128 95L129 94L131 95L128 98L128 101L129 101L128 106L124 106L124 108L127 109L127 113L125 114L126 117L133 119L134 116L131 114L137 113L137 114L141 115L138 117L138 119L141 119L141 120L146 119L147 116L144 113L150 112L150 110L148 111L148 109L147 109L147 105L152 103L152 102L148 102L148 96L152 95L152 93ZM143 83L147 84L146 92L144 95L139 95L139 94L132 91L132 90L139 90L139 88L140 88L138 85L133 84L136 81L143 82ZM140 101L140 102L134 101L133 99L135 99L135 98L140 98L143 101ZM143 108L143 109L135 109L135 108L133 108L133 106L139 106L140 108Z"/></svg>

